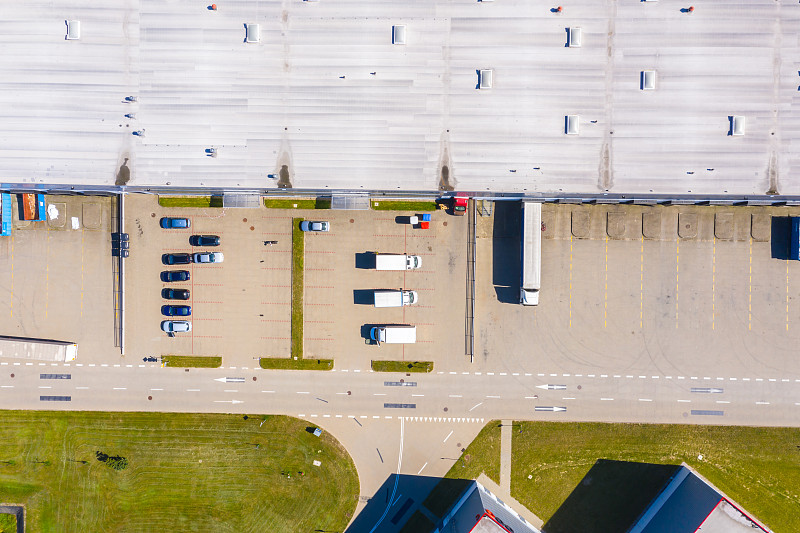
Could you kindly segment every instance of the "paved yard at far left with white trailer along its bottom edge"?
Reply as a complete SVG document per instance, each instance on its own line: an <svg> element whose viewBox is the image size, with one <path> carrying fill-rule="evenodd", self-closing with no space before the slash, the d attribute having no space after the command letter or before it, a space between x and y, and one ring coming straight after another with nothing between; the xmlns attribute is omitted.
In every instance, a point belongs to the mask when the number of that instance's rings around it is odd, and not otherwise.
<svg viewBox="0 0 800 533"><path fill-rule="evenodd" d="M78 344L79 363L117 362L111 199L45 197L53 218L20 221L0 237L0 335Z"/></svg>

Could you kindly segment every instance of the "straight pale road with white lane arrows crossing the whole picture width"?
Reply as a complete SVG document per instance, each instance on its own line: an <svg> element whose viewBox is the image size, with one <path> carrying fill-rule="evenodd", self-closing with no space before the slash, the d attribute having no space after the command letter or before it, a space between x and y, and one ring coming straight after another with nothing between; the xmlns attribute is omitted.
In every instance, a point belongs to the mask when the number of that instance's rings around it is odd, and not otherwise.
<svg viewBox="0 0 800 533"><path fill-rule="evenodd" d="M241 412L314 419L437 417L798 426L800 379L637 374L168 369L0 363L7 409ZM70 379L42 379L44 373ZM11 377L13 375L13 377ZM400 375L402 376L402 375ZM70 401L42 401L69 396Z"/></svg>

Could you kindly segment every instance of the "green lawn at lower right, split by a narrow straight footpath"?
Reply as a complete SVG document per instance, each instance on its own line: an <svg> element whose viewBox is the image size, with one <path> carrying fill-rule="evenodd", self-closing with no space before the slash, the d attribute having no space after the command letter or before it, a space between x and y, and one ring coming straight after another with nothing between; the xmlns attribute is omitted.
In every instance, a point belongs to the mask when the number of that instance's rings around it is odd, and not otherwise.
<svg viewBox="0 0 800 533"><path fill-rule="evenodd" d="M486 472L497 481L499 443L495 420L447 477ZM794 532L800 531L799 447L798 428L514 422L511 495L546 522L598 459L685 462L774 531Z"/></svg>

